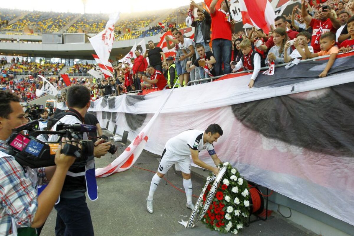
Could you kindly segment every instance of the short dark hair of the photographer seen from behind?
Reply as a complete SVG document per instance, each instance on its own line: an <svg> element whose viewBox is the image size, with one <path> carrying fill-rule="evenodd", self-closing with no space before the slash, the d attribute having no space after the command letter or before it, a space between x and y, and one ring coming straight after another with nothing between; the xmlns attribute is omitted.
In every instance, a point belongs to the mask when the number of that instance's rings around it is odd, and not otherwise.
<svg viewBox="0 0 354 236"><path fill-rule="evenodd" d="M68 107L84 108L90 99L90 90L84 85L73 85L68 89Z"/></svg>

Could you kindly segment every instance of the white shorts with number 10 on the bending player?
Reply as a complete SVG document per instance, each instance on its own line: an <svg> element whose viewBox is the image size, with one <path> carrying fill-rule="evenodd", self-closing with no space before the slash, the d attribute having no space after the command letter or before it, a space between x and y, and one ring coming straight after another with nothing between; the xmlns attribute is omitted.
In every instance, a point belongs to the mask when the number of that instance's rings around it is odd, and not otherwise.
<svg viewBox="0 0 354 236"><path fill-rule="evenodd" d="M166 149L165 149L166 150ZM182 171L183 173L190 174L190 157L189 156L176 156L170 154L169 151L162 152L160 164L158 167L158 172L161 174L166 174L167 171L175 164L177 171Z"/></svg>

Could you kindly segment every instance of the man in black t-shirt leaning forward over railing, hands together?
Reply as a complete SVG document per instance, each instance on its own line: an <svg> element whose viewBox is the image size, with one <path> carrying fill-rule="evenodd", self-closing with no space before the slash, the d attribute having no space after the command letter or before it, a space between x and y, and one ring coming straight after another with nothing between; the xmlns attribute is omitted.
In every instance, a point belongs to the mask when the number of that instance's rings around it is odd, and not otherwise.
<svg viewBox="0 0 354 236"><path fill-rule="evenodd" d="M197 44L196 50L199 54L199 59L192 64L192 62L187 62L187 71L191 71L196 67L201 67L204 69L205 78L210 78L216 75L214 65L216 60L212 52L205 52L205 48L202 44Z"/></svg>

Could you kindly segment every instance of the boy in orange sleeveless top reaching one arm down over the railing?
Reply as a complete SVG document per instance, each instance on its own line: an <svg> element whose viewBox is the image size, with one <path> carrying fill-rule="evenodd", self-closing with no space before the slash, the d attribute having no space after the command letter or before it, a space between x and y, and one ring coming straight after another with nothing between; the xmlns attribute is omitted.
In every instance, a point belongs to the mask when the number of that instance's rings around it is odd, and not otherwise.
<svg viewBox="0 0 354 236"><path fill-rule="evenodd" d="M314 58L319 56L330 55L330 58L327 62L326 68L319 74L319 77L326 77L328 71L331 69L333 63L336 61L337 54L339 53L338 47L336 44L336 34L333 32L327 32L321 35L320 38L320 47L321 51L318 53L311 53L307 44L305 45L305 54L308 58Z"/></svg>

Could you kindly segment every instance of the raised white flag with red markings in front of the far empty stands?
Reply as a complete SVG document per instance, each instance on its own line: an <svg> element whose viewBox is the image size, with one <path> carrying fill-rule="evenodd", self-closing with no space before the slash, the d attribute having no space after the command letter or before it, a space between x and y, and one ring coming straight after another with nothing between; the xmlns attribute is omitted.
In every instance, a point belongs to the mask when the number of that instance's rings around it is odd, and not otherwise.
<svg viewBox="0 0 354 236"><path fill-rule="evenodd" d="M114 42L114 24L119 19L119 13L112 13L106 27L101 33L90 38L91 45L102 62L108 62Z"/></svg>

